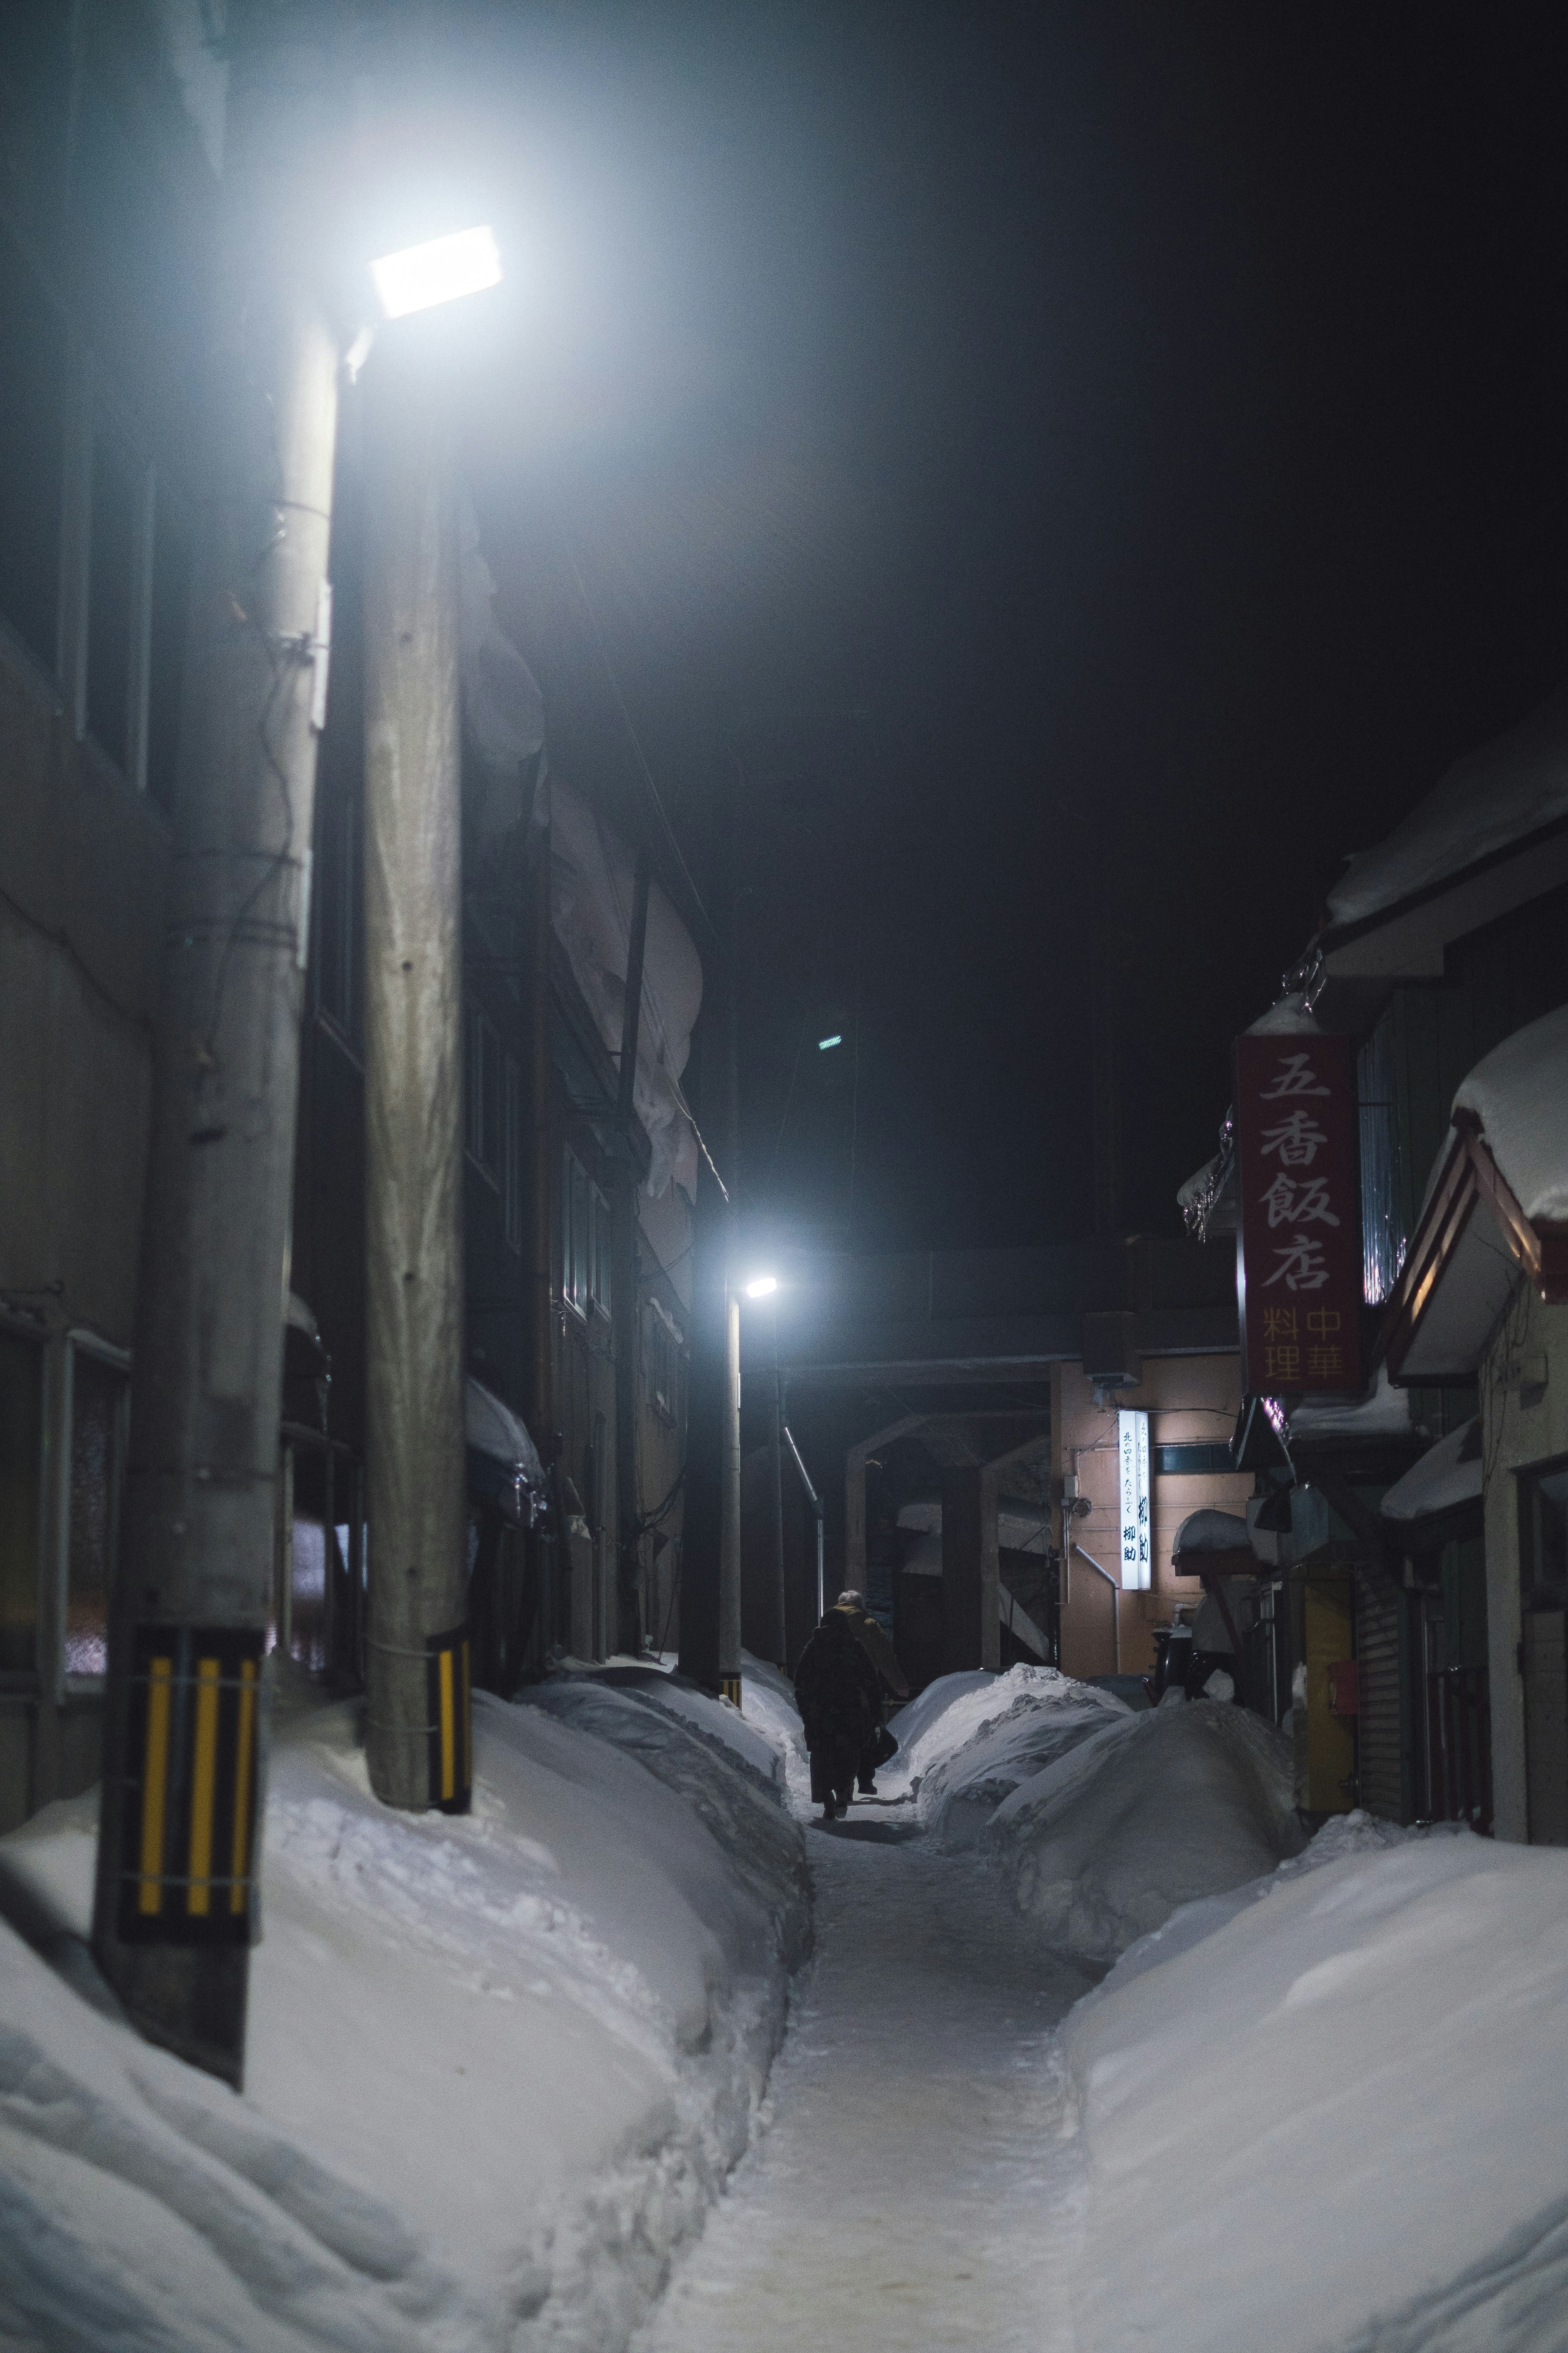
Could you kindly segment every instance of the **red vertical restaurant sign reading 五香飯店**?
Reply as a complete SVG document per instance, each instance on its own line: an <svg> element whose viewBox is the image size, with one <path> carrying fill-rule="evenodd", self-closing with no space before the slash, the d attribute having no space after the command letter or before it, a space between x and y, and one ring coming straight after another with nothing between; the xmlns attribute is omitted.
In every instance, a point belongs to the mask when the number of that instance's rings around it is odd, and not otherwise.
<svg viewBox="0 0 1568 2353"><path fill-rule="evenodd" d="M1347 1038L1237 1038L1241 1388L1361 1379L1356 1082Z"/></svg>

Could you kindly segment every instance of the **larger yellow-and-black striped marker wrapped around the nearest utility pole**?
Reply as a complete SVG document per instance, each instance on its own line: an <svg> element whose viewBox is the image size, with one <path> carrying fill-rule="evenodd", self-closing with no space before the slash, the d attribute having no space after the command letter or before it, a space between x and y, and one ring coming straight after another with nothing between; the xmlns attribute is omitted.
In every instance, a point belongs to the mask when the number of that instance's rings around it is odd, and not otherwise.
<svg viewBox="0 0 1568 2353"><path fill-rule="evenodd" d="M139 1626L125 1786L125 1944L256 1932L261 1628Z"/></svg>

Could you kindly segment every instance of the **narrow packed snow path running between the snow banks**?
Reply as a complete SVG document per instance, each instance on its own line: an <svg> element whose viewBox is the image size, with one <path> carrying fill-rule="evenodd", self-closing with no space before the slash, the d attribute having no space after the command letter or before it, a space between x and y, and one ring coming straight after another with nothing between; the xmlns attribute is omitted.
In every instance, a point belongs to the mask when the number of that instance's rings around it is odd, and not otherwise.
<svg viewBox="0 0 1568 2353"><path fill-rule="evenodd" d="M903 1807L809 1831L816 1958L771 2127L642 2353L1048 2353L1072 2238L1051 2031L1086 1991L992 1868ZM905 1814L907 1821L907 1814Z"/></svg>

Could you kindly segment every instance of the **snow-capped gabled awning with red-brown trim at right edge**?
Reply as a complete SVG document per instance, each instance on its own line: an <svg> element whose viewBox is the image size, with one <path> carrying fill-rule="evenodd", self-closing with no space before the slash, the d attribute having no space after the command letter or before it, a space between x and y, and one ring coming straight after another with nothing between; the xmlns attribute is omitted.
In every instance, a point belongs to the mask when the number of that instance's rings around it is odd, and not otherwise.
<svg viewBox="0 0 1568 2353"><path fill-rule="evenodd" d="M1505 1038L1453 1099L1385 1311L1394 1379L1469 1379L1521 1273L1568 1301L1568 1007Z"/></svg>

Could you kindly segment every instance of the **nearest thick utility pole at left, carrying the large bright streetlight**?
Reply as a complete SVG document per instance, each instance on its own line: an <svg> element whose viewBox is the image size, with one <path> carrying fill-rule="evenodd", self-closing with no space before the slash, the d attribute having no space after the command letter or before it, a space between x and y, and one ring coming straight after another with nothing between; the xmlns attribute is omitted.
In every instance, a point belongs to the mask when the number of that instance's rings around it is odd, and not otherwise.
<svg viewBox="0 0 1568 2353"><path fill-rule="evenodd" d="M230 0L207 506L153 1042L94 1953L240 2085L339 351L334 12Z"/></svg>

